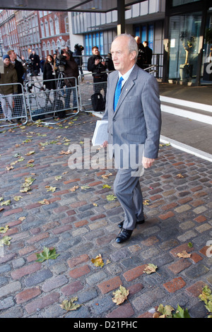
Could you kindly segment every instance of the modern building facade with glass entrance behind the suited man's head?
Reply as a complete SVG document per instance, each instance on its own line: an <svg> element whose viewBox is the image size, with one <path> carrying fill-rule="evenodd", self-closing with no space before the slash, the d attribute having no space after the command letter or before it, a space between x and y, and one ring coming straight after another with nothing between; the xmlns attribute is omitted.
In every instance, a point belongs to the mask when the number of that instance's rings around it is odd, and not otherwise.
<svg viewBox="0 0 212 332"><path fill-rule="evenodd" d="M125 31L148 40L153 64L164 82L186 85L212 83L212 4L210 0L146 0L125 8ZM117 11L71 13L73 49L76 37L84 57L98 46L110 52L117 35Z"/></svg>

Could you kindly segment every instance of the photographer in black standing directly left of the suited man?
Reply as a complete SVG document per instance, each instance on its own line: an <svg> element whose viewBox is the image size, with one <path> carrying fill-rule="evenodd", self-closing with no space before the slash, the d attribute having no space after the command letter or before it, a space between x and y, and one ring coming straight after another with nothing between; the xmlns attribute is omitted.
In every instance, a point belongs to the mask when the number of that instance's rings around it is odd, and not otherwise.
<svg viewBox="0 0 212 332"><path fill-rule="evenodd" d="M97 46L92 48L92 57L88 59L88 71L92 71L93 73L93 83L107 82L107 73L102 73L102 71L107 70L107 66L105 61L102 61L102 57L100 57L100 52ZM104 90L106 99L107 93L107 85L106 84L95 84L94 91L95 93L100 93L100 90Z"/></svg>

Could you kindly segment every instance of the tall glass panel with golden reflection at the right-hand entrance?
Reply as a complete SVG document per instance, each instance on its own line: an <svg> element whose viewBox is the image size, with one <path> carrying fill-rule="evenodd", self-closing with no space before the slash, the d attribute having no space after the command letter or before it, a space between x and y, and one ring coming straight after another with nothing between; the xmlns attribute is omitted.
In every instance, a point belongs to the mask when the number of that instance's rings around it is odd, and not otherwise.
<svg viewBox="0 0 212 332"><path fill-rule="evenodd" d="M195 81L200 27L201 13L182 14L170 18L169 79Z"/></svg>

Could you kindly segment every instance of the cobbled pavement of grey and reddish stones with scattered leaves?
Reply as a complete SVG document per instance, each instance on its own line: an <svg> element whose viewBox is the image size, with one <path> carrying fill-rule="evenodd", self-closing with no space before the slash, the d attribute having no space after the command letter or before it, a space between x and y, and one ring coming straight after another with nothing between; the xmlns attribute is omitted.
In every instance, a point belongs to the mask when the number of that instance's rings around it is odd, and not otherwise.
<svg viewBox="0 0 212 332"><path fill-rule="evenodd" d="M141 178L146 223L128 242L117 244L123 211L117 200L107 201L112 187L103 188L113 186L116 171L70 170L71 155L63 152L73 143L83 148L97 119L80 112L62 125L28 125L0 133L0 204L11 201L0 206L0 227L9 226L0 237L11 237L11 244L0 251L0 318L62 317L66 312L60 304L71 297L83 305L67 318L151 317L159 304L174 309L179 304L194 318L206 317L198 296L204 285L212 289L212 259L207 256L212 240L211 162L162 145L158 161ZM28 177L35 181L22 193ZM57 189L47 191L51 186ZM43 200L45 204L39 203ZM55 248L57 259L36 262L44 247ZM190 258L177 256L184 250ZM99 254L102 268L90 261ZM158 273L144 273L148 263L157 265ZM117 306L112 293L119 285L129 296Z"/></svg>

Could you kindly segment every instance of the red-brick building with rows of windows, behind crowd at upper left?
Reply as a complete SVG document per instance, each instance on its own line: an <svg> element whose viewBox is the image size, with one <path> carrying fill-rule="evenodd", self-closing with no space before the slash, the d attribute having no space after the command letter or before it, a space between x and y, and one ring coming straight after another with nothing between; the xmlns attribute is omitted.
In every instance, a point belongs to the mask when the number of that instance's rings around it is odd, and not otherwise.
<svg viewBox="0 0 212 332"><path fill-rule="evenodd" d="M28 59L35 51L40 57L70 47L67 12L14 11L0 12L1 49L14 49Z"/></svg>

